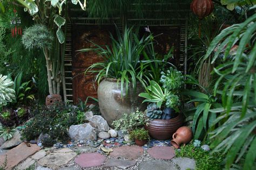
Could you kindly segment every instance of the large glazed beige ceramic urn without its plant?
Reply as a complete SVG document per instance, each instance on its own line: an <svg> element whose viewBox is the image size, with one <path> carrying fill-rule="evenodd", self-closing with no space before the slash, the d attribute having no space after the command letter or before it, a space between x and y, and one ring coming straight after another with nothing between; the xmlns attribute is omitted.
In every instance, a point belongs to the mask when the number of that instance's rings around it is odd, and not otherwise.
<svg viewBox="0 0 256 170"><path fill-rule="evenodd" d="M132 89L131 84L129 88L126 93L124 87L123 95L121 95L120 81L117 82L116 79L105 79L99 83L99 109L110 126L112 126L114 120L121 118L124 113L130 114L136 111L136 108L145 109L145 105L142 104L143 98L138 97L139 93L144 91L142 85L137 82L135 90Z"/></svg>

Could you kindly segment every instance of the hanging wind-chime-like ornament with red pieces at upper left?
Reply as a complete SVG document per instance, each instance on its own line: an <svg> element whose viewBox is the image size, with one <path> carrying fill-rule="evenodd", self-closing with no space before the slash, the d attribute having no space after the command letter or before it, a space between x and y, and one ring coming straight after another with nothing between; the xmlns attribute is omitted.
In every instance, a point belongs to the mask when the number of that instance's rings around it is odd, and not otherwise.
<svg viewBox="0 0 256 170"><path fill-rule="evenodd" d="M17 37L17 35L22 35L21 18L14 9L14 17L11 19L11 37Z"/></svg>

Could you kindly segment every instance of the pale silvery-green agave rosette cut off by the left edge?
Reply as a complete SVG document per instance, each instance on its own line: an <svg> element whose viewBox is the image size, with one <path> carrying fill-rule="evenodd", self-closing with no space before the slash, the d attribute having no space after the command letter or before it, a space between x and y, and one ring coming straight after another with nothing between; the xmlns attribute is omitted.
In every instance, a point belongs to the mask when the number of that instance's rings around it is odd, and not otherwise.
<svg viewBox="0 0 256 170"><path fill-rule="evenodd" d="M15 90L12 89L14 82L6 78L0 74L0 107L15 100Z"/></svg>

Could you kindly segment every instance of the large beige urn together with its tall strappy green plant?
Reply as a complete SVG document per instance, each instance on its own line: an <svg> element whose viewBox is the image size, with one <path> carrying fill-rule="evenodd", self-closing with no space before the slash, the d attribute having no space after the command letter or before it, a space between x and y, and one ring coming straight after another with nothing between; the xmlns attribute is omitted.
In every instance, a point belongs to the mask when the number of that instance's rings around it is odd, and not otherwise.
<svg viewBox="0 0 256 170"><path fill-rule="evenodd" d="M94 44L95 48L79 50L93 51L103 58L103 61L94 63L85 73L96 73L99 109L110 125L123 113L143 108L142 98L138 94L144 90L142 84L145 86L148 80L146 68L150 62L154 62L140 60L153 36L138 39L132 29L125 28L123 35L117 30L117 39L111 35L111 47Z"/></svg>

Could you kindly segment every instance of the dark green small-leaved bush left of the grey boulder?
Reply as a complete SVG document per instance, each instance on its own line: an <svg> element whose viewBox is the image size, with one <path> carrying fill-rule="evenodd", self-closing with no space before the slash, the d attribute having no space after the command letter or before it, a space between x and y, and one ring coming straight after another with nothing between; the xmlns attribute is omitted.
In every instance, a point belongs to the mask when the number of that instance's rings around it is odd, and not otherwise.
<svg viewBox="0 0 256 170"><path fill-rule="evenodd" d="M47 133L50 139L47 141L68 141L68 129L71 125L81 124L85 121L77 119L78 114L81 114L79 108L72 105L56 104L50 107L43 107L32 111L35 117L28 123L22 132L23 138L33 140L41 133ZM48 143L45 141L45 143ZM49 144L50 145L50 144Z"/></svg>

